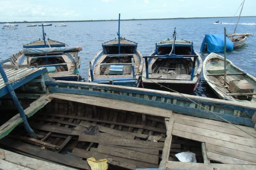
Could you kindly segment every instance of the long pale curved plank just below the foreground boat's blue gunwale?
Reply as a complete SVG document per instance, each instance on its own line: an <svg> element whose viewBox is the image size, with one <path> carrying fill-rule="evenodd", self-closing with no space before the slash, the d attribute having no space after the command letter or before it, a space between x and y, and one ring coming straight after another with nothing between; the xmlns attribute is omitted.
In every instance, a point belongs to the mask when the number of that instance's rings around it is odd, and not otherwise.
<svg viewBox="0 0 256 170"><path fill-rule="evenodd" d="M121 101L121 100L114 100L108 99L103 97L91 97L91 96L84 96L84 95L77 95L77 94L65 94L65 93L52 93L51 97L62 99L62 100L70 100L76 101L79 103L90 104L100 107L130 111L130 112L139 112L153 116L163 116L169 117L172 111L151 107L148 105L143 104L135 104L131 102Z"/></svg>

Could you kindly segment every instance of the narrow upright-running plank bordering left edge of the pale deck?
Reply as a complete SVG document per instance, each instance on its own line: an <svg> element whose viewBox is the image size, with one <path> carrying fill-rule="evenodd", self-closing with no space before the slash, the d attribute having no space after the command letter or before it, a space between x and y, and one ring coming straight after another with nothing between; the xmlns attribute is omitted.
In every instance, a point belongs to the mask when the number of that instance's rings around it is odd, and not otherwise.
<svg viewBox="0 0 256 170"><path fill-rule="evenodd" d="M160 162L159 168L165 168L166 162L169 159L170 155L170 149L171 149L171 144L172 144L172 128L173 128L173 123L174 123L174 115L171 116L167 123L167 137L165 138L164 141L164 148L162 152L162 160Z"/></svg>

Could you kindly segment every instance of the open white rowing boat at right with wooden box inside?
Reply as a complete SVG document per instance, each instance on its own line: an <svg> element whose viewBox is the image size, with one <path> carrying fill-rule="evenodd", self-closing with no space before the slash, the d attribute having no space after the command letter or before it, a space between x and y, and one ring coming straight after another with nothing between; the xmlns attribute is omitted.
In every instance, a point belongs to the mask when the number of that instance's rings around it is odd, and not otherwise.
<svg viewBox="0 0 256 170"><path fill-rule="evenodd" d="M224 58L215 53L205 58L203 68L204 79L220 99L256 104L255 77L227 60L224 86Z"/></svg>

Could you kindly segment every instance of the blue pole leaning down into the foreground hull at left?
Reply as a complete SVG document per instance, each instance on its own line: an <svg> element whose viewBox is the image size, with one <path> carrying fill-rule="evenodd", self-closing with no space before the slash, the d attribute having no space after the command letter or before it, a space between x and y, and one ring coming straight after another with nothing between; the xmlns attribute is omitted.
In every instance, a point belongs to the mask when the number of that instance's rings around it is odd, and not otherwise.
<svg viewBox="0 0 256 170"><path fill-rule="evenodd" d="M10 93L11 97L12 97L12 101L15 104L16 108L18 109L19 113L20 113L20 117L22 118L22 120L24 121L24 127L26 129L26 131L28 132L28 134L32 137L36 139L36 134L35 132L32 130L32 128L30 128L29 124L28 124L28 120L27 117L24 113L24 110L22 108L22 106L20 105L20 102L16 96L16 93L14 92L14 89L12 88L12 84L9 82L8 77L6 76L5 72L4 72L4 68L3 66L0 64L0 73L4 79L4 83L7 87L8 92Z"/></svg>

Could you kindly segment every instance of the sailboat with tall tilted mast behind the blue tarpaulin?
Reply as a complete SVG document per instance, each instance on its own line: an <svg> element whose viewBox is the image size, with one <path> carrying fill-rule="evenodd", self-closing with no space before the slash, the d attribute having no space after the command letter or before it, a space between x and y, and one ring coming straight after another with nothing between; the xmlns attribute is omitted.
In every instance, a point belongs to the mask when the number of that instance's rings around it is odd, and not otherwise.
<svg viewBox="0 0 256 170"><path fill-rule="evenodd" d="M239 48L241 46L244 46L246 44L246 39L248 36L252 35L252 34L248 34L248 33L244 33L244 34L237 34L236 33L236 28L237 28L237 25L240 21L240 16L241 16L241 13L242 13L242 10L243 10L243 7L244 7L244 1L242 2L242 8L241 8L241 11L240 11L240 14L238 16L238 20L236 22L236 27L234 29L234 33L233 34L227 34L227 37L228 39L230 39L233 44L234 44L234 48Z"/></svg>

